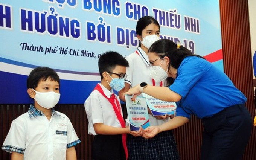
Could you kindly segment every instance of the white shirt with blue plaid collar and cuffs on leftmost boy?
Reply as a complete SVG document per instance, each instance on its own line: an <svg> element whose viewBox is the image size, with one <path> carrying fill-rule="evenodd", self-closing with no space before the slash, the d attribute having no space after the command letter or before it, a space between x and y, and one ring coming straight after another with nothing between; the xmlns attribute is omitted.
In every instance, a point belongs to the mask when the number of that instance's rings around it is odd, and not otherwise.
<svg viewBox="0 0 256 160"><path fill-rule="evenodd" d="M50 121L30 105L12 121L2 149L24 154L24 160L66 160L66 150L81 143L69 118L52 109Z"/></svg>

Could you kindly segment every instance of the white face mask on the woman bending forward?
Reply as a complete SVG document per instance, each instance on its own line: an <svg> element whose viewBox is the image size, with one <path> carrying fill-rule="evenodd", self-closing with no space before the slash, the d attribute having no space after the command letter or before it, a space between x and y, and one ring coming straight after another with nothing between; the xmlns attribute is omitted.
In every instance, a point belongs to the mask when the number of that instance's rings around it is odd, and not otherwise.
<svg viewBox="0 0 256 160"><path fill-rule="evenodd" d="M163 60L162 60L163 62ZM162 62L160 66L162 65ZM159 83L166 79L168 77L167 75L167 70L165 71L162 67L160 66L150 66L150 77L155 80L155 82Z"/></svg>

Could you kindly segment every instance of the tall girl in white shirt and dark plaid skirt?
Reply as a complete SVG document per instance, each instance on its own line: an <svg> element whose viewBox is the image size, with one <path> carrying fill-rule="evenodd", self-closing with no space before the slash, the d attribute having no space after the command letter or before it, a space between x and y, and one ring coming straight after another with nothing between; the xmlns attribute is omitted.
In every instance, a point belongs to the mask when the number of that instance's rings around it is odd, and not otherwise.
<svg viewBox="0 0 256 160"><path fill-rule="evenodd" d="M151 16L139 19L136 25L136 34L139 39L139 47L136 52L126 57L129 67L126 69L127 78L125 87L119 91L119 98L125 102L122 95L130 87L141 82L147 84L164 86L165 81L155 82L150 77L150 63L148 60L148 49L152 43L159 40L160 25ZM167 122L168 116L152 116L149 110L149 122L151 126ZM143 137L127 136L127 148L129 160L179 160L179 154L172 130L162 132L152 139Z"/></svg>

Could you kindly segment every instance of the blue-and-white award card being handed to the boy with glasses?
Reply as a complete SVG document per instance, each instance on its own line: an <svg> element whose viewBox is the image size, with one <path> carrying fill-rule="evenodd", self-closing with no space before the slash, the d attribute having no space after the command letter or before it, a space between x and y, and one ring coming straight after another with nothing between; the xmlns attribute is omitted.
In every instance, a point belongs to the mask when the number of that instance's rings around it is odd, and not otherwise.
<svg viewBox="0 0 256 160"><path fill-rule="evenodd" d="M150 126L146 98L136 97L133 101L131 99L132 97L133 96L125 95L130 131L138 131L140 127L145 129Z"/></svg>

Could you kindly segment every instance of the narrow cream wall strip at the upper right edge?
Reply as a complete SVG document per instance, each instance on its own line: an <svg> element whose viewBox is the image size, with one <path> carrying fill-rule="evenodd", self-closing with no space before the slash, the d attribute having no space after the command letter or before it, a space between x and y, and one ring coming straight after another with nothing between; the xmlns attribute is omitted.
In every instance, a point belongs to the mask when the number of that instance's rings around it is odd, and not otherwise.
<svg viewBox="0 0 256 160"><path fill-rule="evenodd" d="M250 32L251 32L251 54L256 50L256 0L248 0Z"/></svg>

